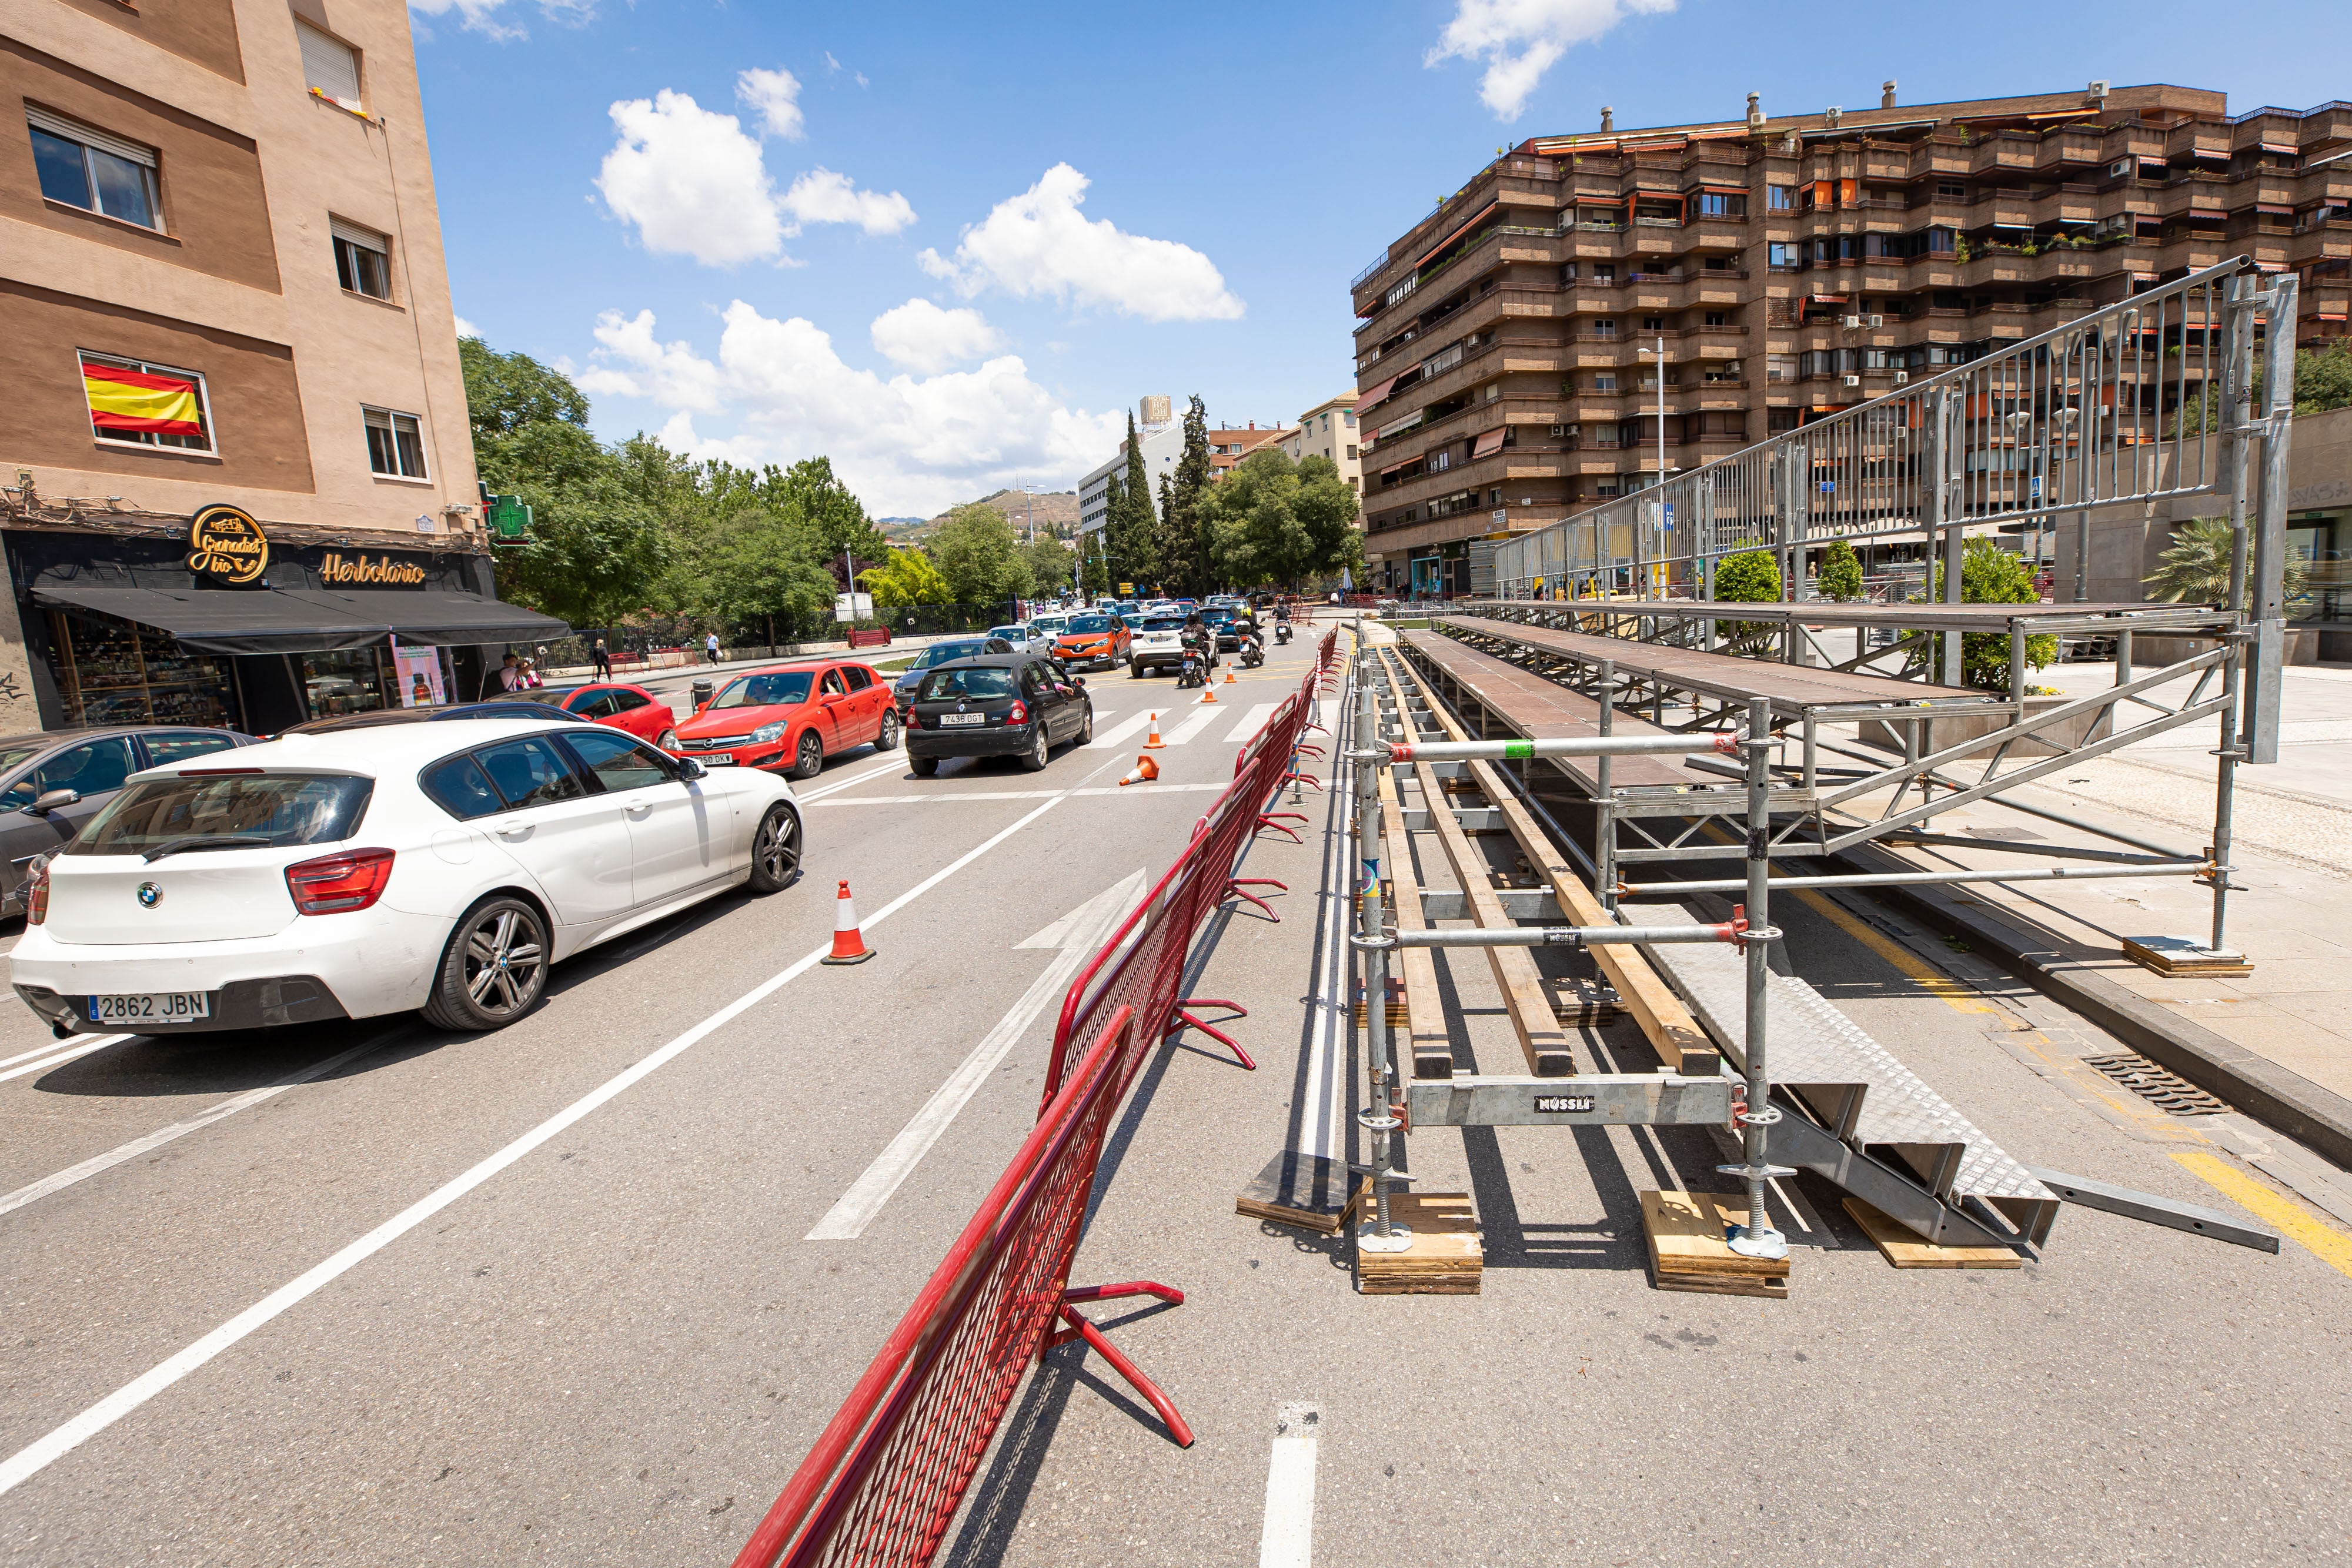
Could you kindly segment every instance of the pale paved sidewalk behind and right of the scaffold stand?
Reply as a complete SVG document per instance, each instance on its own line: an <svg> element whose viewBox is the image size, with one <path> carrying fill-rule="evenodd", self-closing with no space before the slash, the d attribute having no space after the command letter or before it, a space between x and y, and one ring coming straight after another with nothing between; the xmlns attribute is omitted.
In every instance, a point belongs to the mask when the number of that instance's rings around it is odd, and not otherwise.
<svg viewBox="0 0 2352 1568"><path fill-rule="evenodd" d="M2082 696L2112 684L2114 665L2053 665L2034 679ZM2187 682L2152 696L2185 691ZM2201 719L2079 762L2016 795L2194 858L2213 835L2213 724ZM2089 832L1994 802L1931 818L1926 830L2098 844ZM1943 898L1997 907L2049 938L2070 969L2352 1098L2352 668L2286 670L2279 762L2237 769L2232 830L2230 858L2246 891L2230 896L2227 943L2253 961L2253 973L2234 980L2164 978L2122 957L2126 936L2209 938L2213 896L2187 877L1971 884L1945 889ZM1945 870L2030 863L1945 844L1886 853Z"/></svg>

